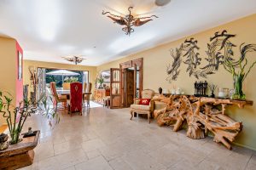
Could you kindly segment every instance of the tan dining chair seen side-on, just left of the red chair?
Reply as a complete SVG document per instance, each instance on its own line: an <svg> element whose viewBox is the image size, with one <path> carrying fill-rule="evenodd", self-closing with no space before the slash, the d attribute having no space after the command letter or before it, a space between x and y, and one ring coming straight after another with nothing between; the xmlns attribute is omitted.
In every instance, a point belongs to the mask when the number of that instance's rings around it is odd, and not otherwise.
<svg viewBox="0 0 256 170"><path fill-rule="evenodd" d="M59 103L63 103L64 108L66 109L67 97L57 94L56 83L55 82L49 82L49 88L50 88L51 94L53 96L53 102L54 102L55 111L59 111L58 110L58 104Z"/></svg>

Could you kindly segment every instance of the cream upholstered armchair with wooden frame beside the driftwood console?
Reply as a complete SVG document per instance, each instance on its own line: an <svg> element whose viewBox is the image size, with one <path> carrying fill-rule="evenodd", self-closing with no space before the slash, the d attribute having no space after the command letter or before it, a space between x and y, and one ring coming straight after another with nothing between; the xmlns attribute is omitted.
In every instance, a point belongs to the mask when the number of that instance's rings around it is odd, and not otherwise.
<svg viewBox="0 0 256 170"><path fill-rule="evenodd" d="M142 99L152 99L154 96L154 90L145 89L142 92ZM131 119L134 113L137 114L147 114L148 123L150 123L151 113L154 111L154 101L150 100L149 105L140 105L140 99L134 99L134 104L130 106Z"/></svg>

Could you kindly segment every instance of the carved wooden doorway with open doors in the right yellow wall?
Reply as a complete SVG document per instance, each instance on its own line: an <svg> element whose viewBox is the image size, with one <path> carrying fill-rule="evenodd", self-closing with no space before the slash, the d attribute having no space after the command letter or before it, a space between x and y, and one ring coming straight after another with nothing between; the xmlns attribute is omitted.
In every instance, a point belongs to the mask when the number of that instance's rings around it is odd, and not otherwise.
<svg viewBox="0 0 256 170"><path fill-rule="evenodd" d="M110 108L130 107L143 90L143 58L110 68Z"/></svg>

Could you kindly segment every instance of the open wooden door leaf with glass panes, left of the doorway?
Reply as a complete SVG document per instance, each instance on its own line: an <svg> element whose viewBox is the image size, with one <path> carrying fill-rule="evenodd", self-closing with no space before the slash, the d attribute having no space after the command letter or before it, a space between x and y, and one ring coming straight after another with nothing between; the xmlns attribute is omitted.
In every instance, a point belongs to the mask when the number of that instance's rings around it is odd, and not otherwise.
<svg viewBox="0 0 256 170"><path fill-rule="evenodd" d="M110 108L122 108L122 74L121 69L110 69Z"/></svg>

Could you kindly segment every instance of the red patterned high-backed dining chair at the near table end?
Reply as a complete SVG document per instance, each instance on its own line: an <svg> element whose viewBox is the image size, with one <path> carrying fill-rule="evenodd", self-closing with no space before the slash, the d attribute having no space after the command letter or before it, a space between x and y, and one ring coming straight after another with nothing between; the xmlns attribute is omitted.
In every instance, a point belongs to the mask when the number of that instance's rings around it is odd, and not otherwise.
<svg viewBox="0 0 256 170"><path fill-rule="evenodd" d="M82 112L83 105L83 85L80 82L70 84L70 111Z"/></svg>

